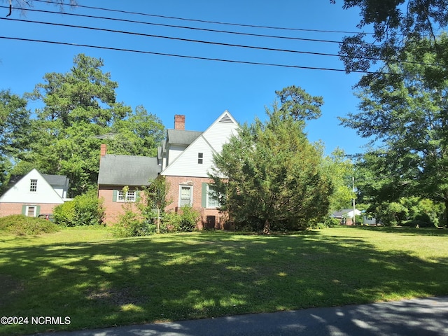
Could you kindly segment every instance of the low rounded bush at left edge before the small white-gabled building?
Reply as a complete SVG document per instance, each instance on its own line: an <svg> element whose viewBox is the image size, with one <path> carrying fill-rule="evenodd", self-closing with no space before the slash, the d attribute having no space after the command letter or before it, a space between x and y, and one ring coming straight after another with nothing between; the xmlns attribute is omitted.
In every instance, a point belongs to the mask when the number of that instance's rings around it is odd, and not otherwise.
<svg viewBox="0 0 448 336"><path fill-rule="evenodd" d="M0 230L13 235L24 236L57 232L59 228L57 228L55 223L46 221L45 219L24 215L11 215L0 218Z"/></svg>

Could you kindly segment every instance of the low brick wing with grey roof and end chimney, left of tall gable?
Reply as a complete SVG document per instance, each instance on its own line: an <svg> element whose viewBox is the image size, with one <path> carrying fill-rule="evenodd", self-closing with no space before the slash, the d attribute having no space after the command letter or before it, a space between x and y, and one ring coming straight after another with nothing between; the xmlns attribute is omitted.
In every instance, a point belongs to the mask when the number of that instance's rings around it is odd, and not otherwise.
<svg viewBox="0 0 448 336"><path fill-rule="evenodd" d="M101 146L98 174L98 197L103 200L104 223L113 224L123 214L123 205L138 200L142 186L160 174L158 158L133 155L107 154L105 144ZM127 187L127 190L123 188Z"/></svg>

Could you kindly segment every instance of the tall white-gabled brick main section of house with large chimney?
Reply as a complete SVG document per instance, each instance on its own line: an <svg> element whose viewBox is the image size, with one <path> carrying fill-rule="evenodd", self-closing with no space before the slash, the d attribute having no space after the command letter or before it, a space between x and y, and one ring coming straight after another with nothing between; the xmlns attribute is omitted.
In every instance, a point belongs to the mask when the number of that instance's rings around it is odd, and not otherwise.
<svg viewBox="0 0 448 336"><path fill-rule="evenodd" d="M213 155L221 153L223 145L239 125L224 111L204 132L185 130L185 116L174 117L174 130L167 131L167 139L159 151L162 176L169 185L169 199L173 200L166 211L178 211L190 204L200 211L198 228L223 228L225 218L218 211L218 200L209 188L209 172Z"/></svg>

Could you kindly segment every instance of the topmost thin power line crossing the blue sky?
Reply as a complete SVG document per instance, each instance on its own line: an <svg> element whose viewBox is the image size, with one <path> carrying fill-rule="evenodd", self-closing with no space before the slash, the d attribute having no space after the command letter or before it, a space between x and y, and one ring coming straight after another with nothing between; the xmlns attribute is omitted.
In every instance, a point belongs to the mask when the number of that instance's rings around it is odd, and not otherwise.
<svg viewBox="0 0 448 336"><path fill-rule="evenodd" d="M45 0L34 0L34 1L48 3ZM71 5L63 3L62 6L71 6ZM262 28L262 29L278 29L278 30L286 30L286 31L313 31L313 32L319 32L319 33L339 33L339 34L359 34L360 33L360 31L339 31L339 30L303 29L303 28L290 28L290 27L246 25L246 24L241 24L241 23L217 22L217 21L210 21L210 20L179 18L179 17L167 16L167 15L155 15L155 14L148 14L148 13L131 12L128 10L117 10L117 9L111 9L111 8L101 8L101 7L92 7L92 6L83 6L83 5L76 5L76 7L94 9L94 10L106 10L106 11L113 12L113 13L143 15L143 16L148 16L151 18L163 18L163 19L170 19L170 20L183 20L183 21L190 21L190 22L211 23L214 25L229 25L229 26L236 26L236 27L251 27L251 28ZM372 34L373 35L373 33L363 33L363 34Z"/></svg>

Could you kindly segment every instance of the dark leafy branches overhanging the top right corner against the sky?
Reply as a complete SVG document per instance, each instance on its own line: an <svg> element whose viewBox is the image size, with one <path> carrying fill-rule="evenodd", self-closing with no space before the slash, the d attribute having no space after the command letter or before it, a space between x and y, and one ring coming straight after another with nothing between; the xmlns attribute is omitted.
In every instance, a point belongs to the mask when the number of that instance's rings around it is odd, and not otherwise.
<svg viewBox="0 0 448 336"><path fill-rule="evenodd" d="M344 0L343 3L344 9L360 8L358 28L373 29L373 35L360 33L344 38L339 54L346 71L367 71L378 62L404 61L402 51L406 43L422 38L428 38L427 52L444 52L436 36L448 25L448 0Z"/></svg>

